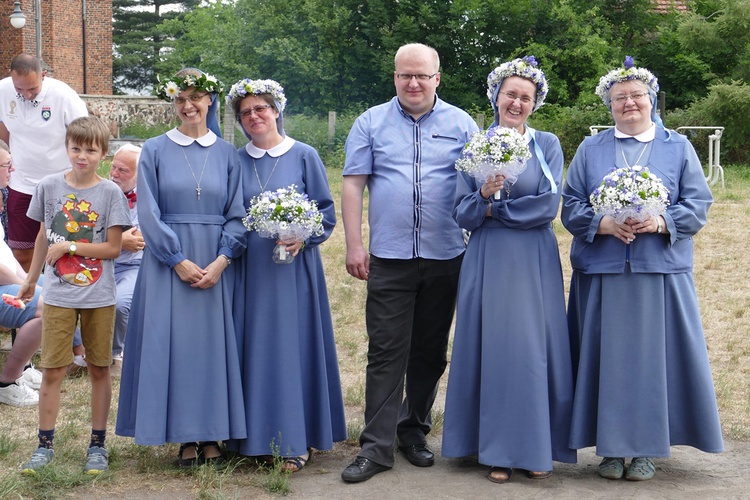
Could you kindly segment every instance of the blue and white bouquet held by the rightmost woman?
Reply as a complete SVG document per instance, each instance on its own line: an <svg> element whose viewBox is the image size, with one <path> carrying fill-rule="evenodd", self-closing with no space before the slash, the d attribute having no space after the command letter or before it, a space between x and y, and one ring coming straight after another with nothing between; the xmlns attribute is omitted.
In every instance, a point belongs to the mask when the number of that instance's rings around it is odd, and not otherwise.
<svg viewBox="0 0 750 500"><path fill-rule="evenodd" d="M669 190L647 167L613 168L589 197L597 214L610 215L618 224L662 215L669 206Z"/></svg>

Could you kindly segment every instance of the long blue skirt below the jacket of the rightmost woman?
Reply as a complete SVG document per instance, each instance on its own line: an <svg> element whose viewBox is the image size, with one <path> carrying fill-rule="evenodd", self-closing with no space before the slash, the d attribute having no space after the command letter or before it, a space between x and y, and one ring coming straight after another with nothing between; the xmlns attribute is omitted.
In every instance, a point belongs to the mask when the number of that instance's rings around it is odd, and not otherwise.
<svg viewBox="0 0 750 500"><path fill-rule="evenodd" d="M582 274L571 281L580 353L570 446L606 457L723 451L692 273Z"/></svg>

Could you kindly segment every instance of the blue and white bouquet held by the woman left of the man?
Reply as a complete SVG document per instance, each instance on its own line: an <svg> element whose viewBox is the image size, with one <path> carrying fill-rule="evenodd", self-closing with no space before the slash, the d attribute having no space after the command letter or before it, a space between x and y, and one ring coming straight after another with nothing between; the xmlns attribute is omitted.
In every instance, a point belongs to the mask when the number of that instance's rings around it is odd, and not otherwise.
<svg viewBox="0 0 750 500"><path fill-rule="evenodd" d="M281 241L305 241L323 234L323 214L318 211L318 203L307 194L298 193L294 184L254 197L242 223L263 238Z"/></svg>

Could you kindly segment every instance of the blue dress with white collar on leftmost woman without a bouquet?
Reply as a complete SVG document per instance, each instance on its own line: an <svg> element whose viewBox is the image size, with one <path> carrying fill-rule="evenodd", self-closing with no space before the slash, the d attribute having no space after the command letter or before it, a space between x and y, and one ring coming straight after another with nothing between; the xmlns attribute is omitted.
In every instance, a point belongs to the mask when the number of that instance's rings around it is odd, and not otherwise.
<svg viewBox="0 0 750 500"><path fill-rule="evenodd" d="M210 155L200 199L183 149L197 178ZM206 290L191 288L172 269L185 258L206 267L220 253L244 250L241 189L237 151L213 132L193 141L172 130L143 146L138 218L146 249L128 322L116 427L138 444L246 435L233 268Z"/></svg>

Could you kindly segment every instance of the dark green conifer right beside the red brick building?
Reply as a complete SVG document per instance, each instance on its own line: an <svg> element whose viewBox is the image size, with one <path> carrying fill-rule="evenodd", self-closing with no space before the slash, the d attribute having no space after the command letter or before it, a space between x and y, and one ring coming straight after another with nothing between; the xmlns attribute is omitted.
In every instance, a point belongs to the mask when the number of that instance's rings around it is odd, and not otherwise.
<svg viewBox="0 0 750 500"><path fill-rule="evenodd" d="M192 9L200 0L112 0L113 91L143 92L156 81L154 68L171 40L159 22Z"/></svg>

